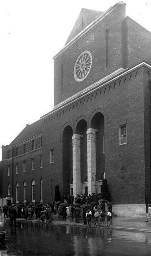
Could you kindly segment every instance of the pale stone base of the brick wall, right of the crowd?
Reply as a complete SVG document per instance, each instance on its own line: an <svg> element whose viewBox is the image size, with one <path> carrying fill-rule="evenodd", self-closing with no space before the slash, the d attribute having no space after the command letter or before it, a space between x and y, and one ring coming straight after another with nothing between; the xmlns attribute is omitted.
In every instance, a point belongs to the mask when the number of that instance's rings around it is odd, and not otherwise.
<svg viewBox="0 0 151 256"><path fill-rule="evenodd" d="M146 217L146 204L115 204L112 207L117 216Z"/></svg>

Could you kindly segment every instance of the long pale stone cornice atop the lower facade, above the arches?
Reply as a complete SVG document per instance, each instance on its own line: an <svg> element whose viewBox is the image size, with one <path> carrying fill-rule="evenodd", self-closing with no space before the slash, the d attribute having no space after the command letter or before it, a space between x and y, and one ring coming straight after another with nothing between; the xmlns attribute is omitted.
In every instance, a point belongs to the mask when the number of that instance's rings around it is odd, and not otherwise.
<svg viewBox="0 0 151 256"><path fill-rule="evenodd" d="M99 89L102 90L108 84L113 84L116 80L120 80L124 76L126 77L131 72L136 71L140 67L147 67L147 68L151 69L151 65L149 65L145 62L141 62L141 63L137 64L136 66L131 67L127 70L124 70L124 69L117 70L116 72L110 74L107 77L104 77L103 79L99 80L95 84L92 84L91 86L87 87L86 89L78 92L77 94L73 95L72 97L68 98L67 100L56 105L52 111L43 115L40 118L44 119L44 118L49 117L50 115L53 115L53 114L55 115L56 112L58 112L58 111L62 111L65 108L67 109L69 107L69 105L75 104L75 102L82 100L82 98L84 98L84 97L88 97L90 94L95 93ZM125 79L124 79L124 82L125 82ZM105 90L106 90L106 88L105 88ZM104 93L105 93L105 90L104 90ZM70 106L70 109L71 109L71 106ZM58 117L58 114L57 114L57 117Z"/></svg>

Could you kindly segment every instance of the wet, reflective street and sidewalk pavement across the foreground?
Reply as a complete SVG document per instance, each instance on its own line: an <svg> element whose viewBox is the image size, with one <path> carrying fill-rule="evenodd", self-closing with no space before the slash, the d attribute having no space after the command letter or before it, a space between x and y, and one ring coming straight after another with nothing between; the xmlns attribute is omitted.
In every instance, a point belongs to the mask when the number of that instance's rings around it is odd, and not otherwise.
<svg viewBox="0 0 151 256"><path fill-rule="evenodd" d="M146 223L145 218L113 217L111 227L103 228L94 227L94 220L92 227L87 228L83 221L76 224L72 218L63 221L54 216L52 224L38 222L36 218L18 219L17 228L9 227L9 219L2 221L7 233L0 245L0 256L151 255L151 220ZM141 227L139 231L137 227ZM145 232L145 228L150 232Z"/></svg>

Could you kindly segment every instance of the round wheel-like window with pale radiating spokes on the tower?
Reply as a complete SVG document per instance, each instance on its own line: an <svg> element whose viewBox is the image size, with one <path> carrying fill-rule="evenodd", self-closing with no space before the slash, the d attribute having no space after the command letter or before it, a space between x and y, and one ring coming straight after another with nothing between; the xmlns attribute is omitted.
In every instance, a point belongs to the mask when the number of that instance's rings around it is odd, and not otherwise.
<svg viewBox="0 0 151 256"><path fill-rule="evenodd" d="M74 78L76 81L80 82L87 77L92 65L92 55L89 51L82 52L75 63L74 66Z"/></svg>

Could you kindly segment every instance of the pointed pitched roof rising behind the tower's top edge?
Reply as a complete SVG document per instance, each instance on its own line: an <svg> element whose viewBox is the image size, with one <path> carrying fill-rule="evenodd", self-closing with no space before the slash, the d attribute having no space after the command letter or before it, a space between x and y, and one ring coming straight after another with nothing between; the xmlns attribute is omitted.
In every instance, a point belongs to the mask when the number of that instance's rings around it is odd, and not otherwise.
<svg viewBox="0 0 151 256"><path fill-rule="evenodd" d="M104 12L82 8L78 19L76 20L76 23L66 41L66 44L69 43L76 35L79 34L79 32L85 29L91 22L100 17L103 13Z"/></svg>

